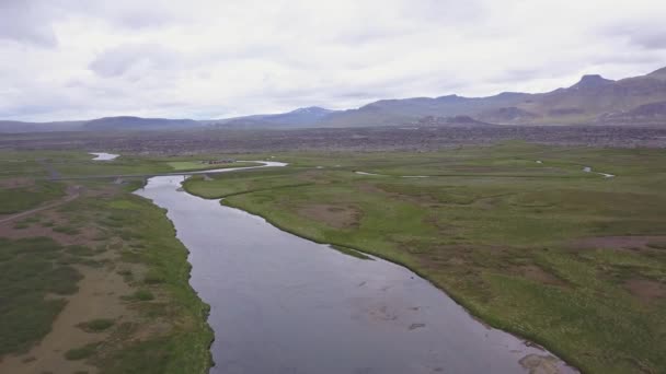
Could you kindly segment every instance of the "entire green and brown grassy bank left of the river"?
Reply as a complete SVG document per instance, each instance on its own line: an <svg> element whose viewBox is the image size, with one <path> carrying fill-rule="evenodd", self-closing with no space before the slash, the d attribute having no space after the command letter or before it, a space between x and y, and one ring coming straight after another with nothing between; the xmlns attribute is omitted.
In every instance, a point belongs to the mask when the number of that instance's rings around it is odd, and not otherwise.
<svg viewBox="0 0 666 374"><path fill-rule="evenodd" d="M187 250L164 210L131 194L140 180L77 180L79 196L62 200L74 183L35 180L48 175L31 161L42 156L0 154L12 170L0 176L0 195L48 191L20 210L0 200L12 212L47 207L0 224L0 372L207 373L208 306L188 284ZM80 176L164 168L88 159L48 154L56 170Z"/></svg>

